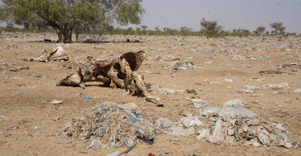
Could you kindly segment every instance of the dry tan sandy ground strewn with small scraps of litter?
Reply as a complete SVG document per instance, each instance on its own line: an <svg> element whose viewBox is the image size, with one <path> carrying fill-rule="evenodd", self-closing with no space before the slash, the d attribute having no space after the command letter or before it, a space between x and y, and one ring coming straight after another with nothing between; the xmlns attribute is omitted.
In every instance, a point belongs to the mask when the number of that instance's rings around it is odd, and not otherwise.
<svg viewBox="0 0 301 156"><path fill-rule="evenodd" d="M17 37L17 38L15 38ZM82 39L88 39L83 36ZM140 43L108 42L131 41L139 39ZM21 61L22 58L39 56L44 50L49 51L57 43L43 42L44 39L57 40L56 34L13 34L0 35L0 112L6 118L0 118L0 155L106 155L116 149L85 150L84 143L74 143L71 138L56 137L62 128L83 110L91 108L105 101L116 103L134 102L143 108L146 114L153 114L151 120L167 117L172 121L184 117L183 114L199 115L199 109L194 108L185 98L192 94L157 95L165 107L156 107L151 102L143 102L143 98L132 95L122 95L122 89L111 89L99 83L86 83L86 89L80 87L57 87L56 83L73 70L57 69L58 62L30 62ZM75 39L74 39L75 40ZM117 57L128 51L146 51L147 57L155 55L173 55L180 61L193 61L201 68L188 70L164 70L173 61L145 60L151 64L142 64L139 72L145 76L145 82L161 85L163 88L185 90L194 89L196 97L206 100L210 106L222 106L225 101L241 99L249 104L244 107L252 110L261 119L275 123L283 123L283 127L290 131L295 140L301 139L300 104L301 93L293 93L295 88L301 88L300 66L287 66L284 74L259 74L258 71L271 70L284 64L301 64L300 37L226 37L206 39L204 37L163 37L163 36L106 36L104 43L74 43L60 44L66 53L72 56L87 57ZM277 43L277 44L276 44ZM246 46L245 46L246 45ZM97 47L105 48L98 50ZM244 50L248 48L249 50ZM258 50L260 49L260 50ZM283 51L281 51L283 49ZM85 53L84 53L85 52ZM259 55L256 55L259 54ZM233 60L235 55L256 55L256 60ZM261 56L261 57L260 57ZM262 57L264 56L264 57ZM205 63L209 62L211 63ZM18 66L27 66L29 69L9 71ZM143 74L149 70L153 73ZM294 70L294 71L292 71ZM172 75L177 75L172 77ZM12 79L14 77L23 80ZM256 81L250 78L264 78ZM208 81L204 81L204 80ZM233 83L223 82L232 79ZM209 84L217 81L221 84ZM195 83L199 83L198 85ZM264 84L288 83L290 89L256 90L255 93L238 93L235 89L246 89L245 85L261 87ZM178 88L170 85L176 84ZM37 86L33 89L28 87ZM277 94L271 92L277 91ZM82 93L94 99L83 99L76 96ZM262 93L262 94L261 94ZM181 99L181 100L175 100ZM285 102L285 100L289 102ZM58 105L50 104L53 100L63 100ZM259 100L259 103L250 103ZM67 108L64 108L69 106ZM206 106L201 107L203 110ZM278 113L273 111L278 110ZM54 121L55 118L61 118ZM10 125L18 126L17 129ZM37 126L37 127L36 127ZM36 129L37 128L37 129ZM300 148L286 149L276 147L267 150L267 147L243 147L230 144L210 144L205 140L193 137L174 137L167 134L157 134L155 143L148 145L141 143L132 149L128 155L147 155L168 152L167 155L183 155L182 152L197 155L299 155ZM182 142L172 144L169 139L182 138ZM120 152L127 148L119 148Z"/></svg>

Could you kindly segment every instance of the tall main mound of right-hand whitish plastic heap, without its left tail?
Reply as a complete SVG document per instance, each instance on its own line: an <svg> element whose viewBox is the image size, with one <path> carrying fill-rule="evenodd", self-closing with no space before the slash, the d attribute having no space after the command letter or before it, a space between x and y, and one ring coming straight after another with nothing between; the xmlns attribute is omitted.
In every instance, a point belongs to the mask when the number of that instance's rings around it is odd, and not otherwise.
<svg viewBox="0 0 301 156"><path fill-rule="evenodd" d="M260 121L260 117L251 110L218 107L207 107L201 115L201 129L198 131L197 139L204 138L210 143L225 142L230 144L241 144L256 147L283 146L286 148L297 148L298 144L289 138L288 130L282 124ZM283 133L285 132L285 133Z"/></svg>

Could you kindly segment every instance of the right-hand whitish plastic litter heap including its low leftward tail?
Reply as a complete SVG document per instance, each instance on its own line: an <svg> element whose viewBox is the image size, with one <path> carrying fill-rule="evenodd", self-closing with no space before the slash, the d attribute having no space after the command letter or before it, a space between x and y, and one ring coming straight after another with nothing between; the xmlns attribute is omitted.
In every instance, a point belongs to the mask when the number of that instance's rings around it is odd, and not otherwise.
<svg viewBox="0 0 301 156"><path fill-rule="evenodd" d="M298 141L286 135L290 133L282 124L260 120L260 116L243 108L208 106L200 110L200 116L184 117L177 122L160 118L156 122L158 129L174 136L193 136L199 129L196 139L204 138L210 143L299 147Z"/></svg>

